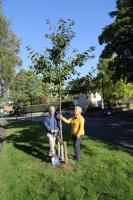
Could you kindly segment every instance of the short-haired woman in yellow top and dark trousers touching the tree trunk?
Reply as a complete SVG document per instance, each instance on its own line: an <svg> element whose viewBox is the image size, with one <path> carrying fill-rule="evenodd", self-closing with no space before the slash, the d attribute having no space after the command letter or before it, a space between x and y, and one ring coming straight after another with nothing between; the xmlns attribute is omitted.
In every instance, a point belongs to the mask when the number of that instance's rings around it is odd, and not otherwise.
<svg viewBox="0 0 133 200"><path fill-rule="evenodd" d="M63 122L71 124L71 133L74 142L75 158L77 162L80 160L80 143L83 140L85 131L84 131L84 118L81 115L82 108L76 106L74 109L74 116L70 119L66 119L61 116Z"/></svg>

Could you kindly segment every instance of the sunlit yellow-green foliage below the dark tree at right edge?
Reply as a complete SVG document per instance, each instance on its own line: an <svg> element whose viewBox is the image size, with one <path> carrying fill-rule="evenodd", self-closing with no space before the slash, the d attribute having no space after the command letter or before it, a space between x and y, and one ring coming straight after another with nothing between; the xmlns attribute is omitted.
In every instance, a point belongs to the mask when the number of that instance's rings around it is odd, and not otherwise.
<svg viewBox="0 0 133 200"><path fill-rule="evenodd" d="M97 66L97 91L103 95L105 104L113 105L118 100L133 98L133 84L126 83L122 79L114 82L112 80L114 72L109 69L109 62L110 59L101 59Z"/></svg>

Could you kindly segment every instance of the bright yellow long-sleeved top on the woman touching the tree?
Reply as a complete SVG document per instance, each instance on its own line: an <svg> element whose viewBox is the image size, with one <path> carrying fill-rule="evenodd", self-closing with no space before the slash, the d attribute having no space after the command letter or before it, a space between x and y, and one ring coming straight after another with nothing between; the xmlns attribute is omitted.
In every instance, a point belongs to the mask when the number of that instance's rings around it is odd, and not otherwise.
<svg viewBox="0 0 133 200"><path fill-rule="evenodd" d="M72 117L70 119L66 119L65 117L62 117L63 122L67 124L71 124L71 133L72 135L77 136L79 138L81 135L85 134L84 131L84 123L85 120L81 114L79 114L77 117Z"/></svg>

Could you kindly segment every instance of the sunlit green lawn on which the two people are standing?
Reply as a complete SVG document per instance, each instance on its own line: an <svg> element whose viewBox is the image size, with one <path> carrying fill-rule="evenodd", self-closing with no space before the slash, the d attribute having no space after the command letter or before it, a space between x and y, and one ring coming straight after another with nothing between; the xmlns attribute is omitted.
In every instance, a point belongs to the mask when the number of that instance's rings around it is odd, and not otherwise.
<svg viewBox="0 0 133 200"><path fill-rule="evenodd" d="M86 136L81 163L53 167L41 123L10 120L0 155L0 200L133 200L133 156Z"/></svg>

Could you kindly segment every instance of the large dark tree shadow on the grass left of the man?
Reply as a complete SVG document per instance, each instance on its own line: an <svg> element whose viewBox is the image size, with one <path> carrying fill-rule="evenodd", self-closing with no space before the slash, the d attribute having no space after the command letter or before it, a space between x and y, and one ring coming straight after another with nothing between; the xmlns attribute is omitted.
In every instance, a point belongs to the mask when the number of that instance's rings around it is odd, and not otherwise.
<svg viewBox="0 0 133 200"><path fill-rule="evenodd" d="M44 162L50 162L49 145L41 123L9 120L6 129L11 132L14 129L13 133L6 137L6 141L13 143L15 148Z"/></svg>

